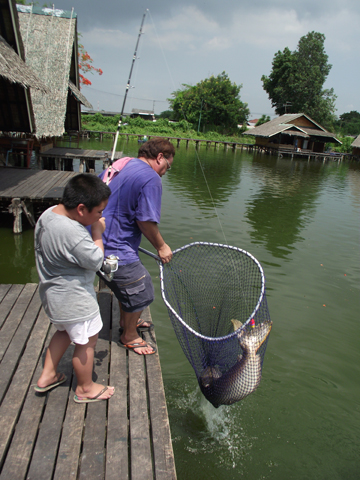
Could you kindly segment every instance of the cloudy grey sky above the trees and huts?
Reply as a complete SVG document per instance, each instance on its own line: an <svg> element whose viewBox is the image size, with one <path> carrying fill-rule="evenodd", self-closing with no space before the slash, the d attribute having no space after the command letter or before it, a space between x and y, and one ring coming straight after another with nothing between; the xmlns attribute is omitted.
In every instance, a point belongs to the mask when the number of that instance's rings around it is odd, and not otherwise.
<svg viewBox="0 0 360 480"><path fill-rule="evenodd" d="M311 31L326 37L332 69L324 88L334 88L336 115L360 112L359 0L58 0L55 8L74 8L81 43L104 72L88 75L92 85L82 88L94 110L121 111L146 12L126 113L159 114L183 84L225 71L242 85L250 119L274 118L261 76L270 74L277 51L294 51Z"/></svg>

